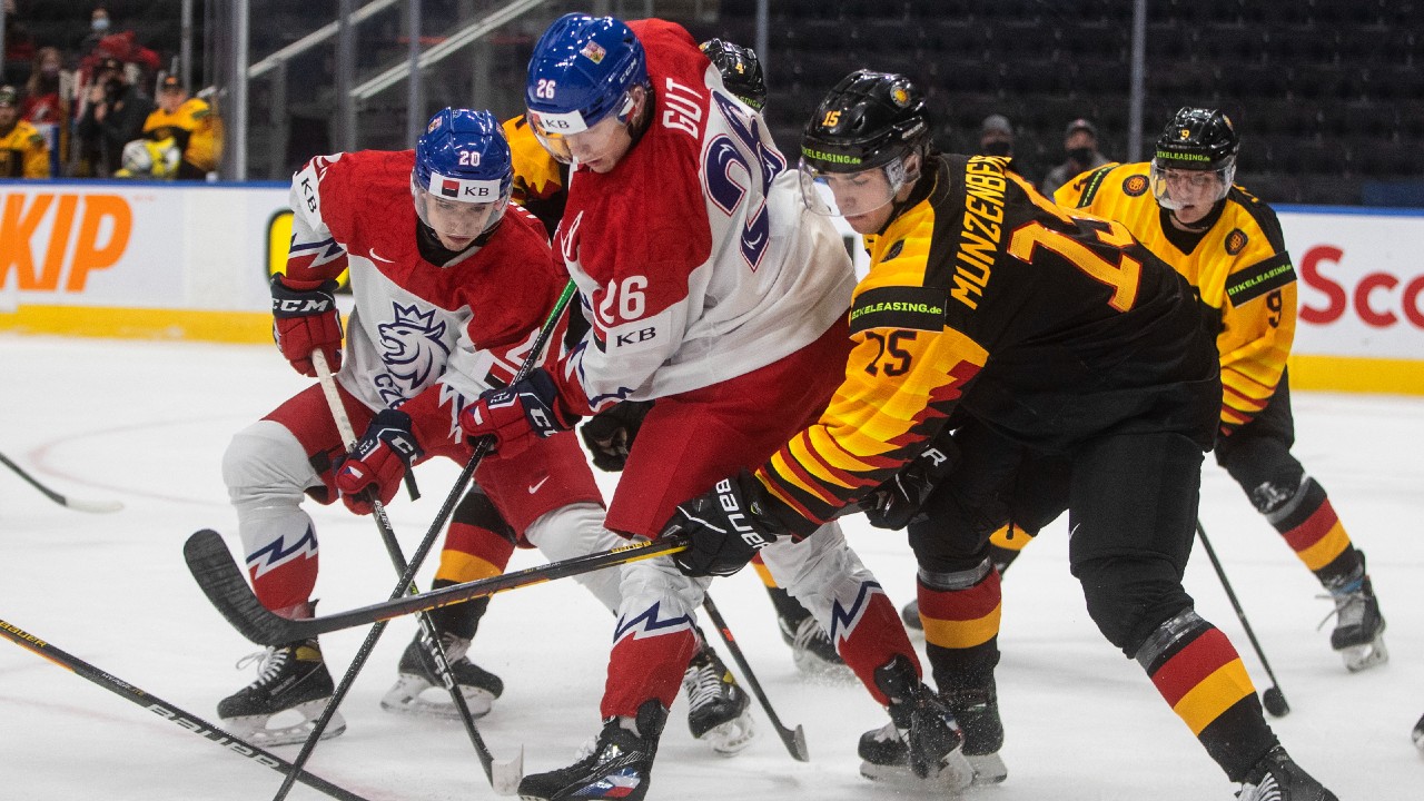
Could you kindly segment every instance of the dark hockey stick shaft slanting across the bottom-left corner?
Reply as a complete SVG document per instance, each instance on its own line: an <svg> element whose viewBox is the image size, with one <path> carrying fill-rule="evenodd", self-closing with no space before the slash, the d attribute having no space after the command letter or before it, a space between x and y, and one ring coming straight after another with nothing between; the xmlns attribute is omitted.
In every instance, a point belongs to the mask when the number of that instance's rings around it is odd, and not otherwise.
<svg viewBox="0 0 1424 801"><path fill-rule="evenodd" d="M54 664L68 670L70 673L81 678L87 678L94 684L98 684L100 687L108 690L110 693L114 693L121 698L125 698L128 701L138 704L140 707L144 707L145 710L154 713L155 715L164 720L171 720L172 723L178 724L184 731L191 731L198 737L208 740L209 743L215 743L216 745L221 745L225 751L229 751L239 757L245 757L259 765L272 768L279 772L286 772L288 768L290 768L293 771L293 775L296 775L296 781L300 781L302 784L313 790L319 790L330 795L332 798L340 798L342 801L367 801L362 795L356 795L349 790L342 790L340 787L336 787L335 784L318 775L309 774L305 770L299 770L295 765L289 764L282 757L263 751L262 748L258 748L256 745L248 743L246 740L242 740L241 737L228 734L226 731L218 728L216 725L212 725L211 723L202 720L198 715L189 714L169 704L168 701L164 701L162 698L150 696L148 693L140 690L138 687L134 687L128 681L111 676L70 653L61 651L60 648L54 647L46 640L41 640L34 634L30 634L28 631L20 629L19 626L14 626L13 623L6 623L4 620L0 620L0 637L10 640L11 643L20 646L21 648L33 651L36 656L53 661Z"/></svg>

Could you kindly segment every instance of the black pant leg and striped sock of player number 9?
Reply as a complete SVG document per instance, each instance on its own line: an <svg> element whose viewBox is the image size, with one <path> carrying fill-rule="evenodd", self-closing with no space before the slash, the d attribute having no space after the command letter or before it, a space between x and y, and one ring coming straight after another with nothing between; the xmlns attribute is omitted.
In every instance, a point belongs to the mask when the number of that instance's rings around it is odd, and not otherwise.
<svg viewBox="0 0 1424 801"><path fill-rule="evenodd" d="M1321 586L1330 586L1361 570L1360 553L1324 487L1292 456L1294 442L1289 375L1282 373L1266 408L1218 438L1216 463L1236 479Z"/></svg>

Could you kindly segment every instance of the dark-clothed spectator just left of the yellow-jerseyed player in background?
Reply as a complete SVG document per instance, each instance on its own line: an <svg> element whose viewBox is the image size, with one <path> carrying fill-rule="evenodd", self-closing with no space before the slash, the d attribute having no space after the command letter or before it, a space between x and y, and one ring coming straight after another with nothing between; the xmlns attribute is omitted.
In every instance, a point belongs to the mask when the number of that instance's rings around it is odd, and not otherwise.
<svg viewBox="0 0 1424 801"><path fill-rule="evenodd" d="M107 178L120 168L124 145L142 133L154 103L128 81L118 58L100 63L74 128L78 165L73 174Z"/></svg>

